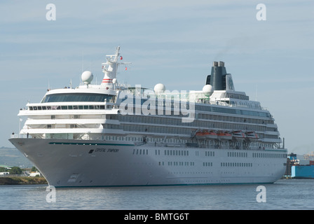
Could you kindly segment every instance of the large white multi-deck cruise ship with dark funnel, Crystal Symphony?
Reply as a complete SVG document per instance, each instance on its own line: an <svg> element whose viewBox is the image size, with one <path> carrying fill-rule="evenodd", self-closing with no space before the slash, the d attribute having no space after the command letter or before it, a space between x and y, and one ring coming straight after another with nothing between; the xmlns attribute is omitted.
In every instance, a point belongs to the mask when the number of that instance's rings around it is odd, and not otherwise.
<svg viewBox="0 0 314 224"><path fill-rule="evenodd" d="M287 149L271 113L235 91L224 62L200 90L125 85L120 47L102 63L102 83L83 71L78 87L47 90L27 103L9 139L49 186L170 186L273 183Z"/></svg>

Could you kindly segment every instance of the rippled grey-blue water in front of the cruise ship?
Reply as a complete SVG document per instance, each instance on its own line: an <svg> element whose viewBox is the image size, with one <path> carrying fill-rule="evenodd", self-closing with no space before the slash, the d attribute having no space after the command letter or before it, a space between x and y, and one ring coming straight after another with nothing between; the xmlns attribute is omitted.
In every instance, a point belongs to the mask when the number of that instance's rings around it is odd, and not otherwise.
<svg viewBox="0 0 314 224"><path fill-rule="evenodd" d="M47 200L47 186L0 186L0 209L314 209L314 180L280 180L263 185L262 192L258 186L56 188L55 202L48 202L53 197Z"/></svg>

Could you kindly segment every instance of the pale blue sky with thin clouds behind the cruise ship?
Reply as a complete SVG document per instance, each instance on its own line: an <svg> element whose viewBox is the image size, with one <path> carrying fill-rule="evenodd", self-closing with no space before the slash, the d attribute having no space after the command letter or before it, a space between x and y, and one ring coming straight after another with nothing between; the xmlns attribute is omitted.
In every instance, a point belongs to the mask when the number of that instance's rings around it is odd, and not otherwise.
<svg viewBox="0 0 314 224"><path fill-rule="evenodd" d="M79 85L82 71L100 82L119 45L132 64L118 80L130 85L202 90L212 62L225 62L235 90L274 116L288 153L310 153L313 37L313 0L2 0L0 146L12 147L28 101L40 102L48 86Z"/></svg>

